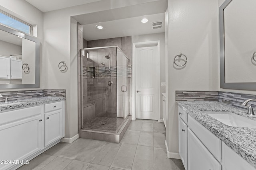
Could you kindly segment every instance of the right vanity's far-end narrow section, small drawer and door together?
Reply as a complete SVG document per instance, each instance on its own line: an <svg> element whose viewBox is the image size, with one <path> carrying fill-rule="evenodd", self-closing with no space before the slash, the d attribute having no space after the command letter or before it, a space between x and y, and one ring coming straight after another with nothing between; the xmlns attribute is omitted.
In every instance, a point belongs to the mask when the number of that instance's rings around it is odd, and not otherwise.
<svg viewBox="0 0 256 170"><path fill-rule="evenodd" d="M179 154L182 163L187 170L187 113L179 107L179 122L178 122L178 141Z"/></svg>

